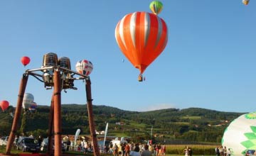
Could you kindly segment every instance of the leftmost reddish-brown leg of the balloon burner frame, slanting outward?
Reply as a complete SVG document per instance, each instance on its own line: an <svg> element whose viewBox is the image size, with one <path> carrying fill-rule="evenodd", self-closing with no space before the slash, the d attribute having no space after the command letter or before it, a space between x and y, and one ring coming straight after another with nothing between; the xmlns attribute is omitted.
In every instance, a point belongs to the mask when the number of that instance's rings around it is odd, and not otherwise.
<svg viewBox="0 0 256 156"><path fill-rule="evenodd" d="M28 74L23 74L23 77L21 79L21 84L20 84L20 88L18 91L18 101L17 101L17 106L16 106L16 111L14 114L14 121L11 127L11 133L9 135L9 140L8 143L6 145L6 154L10 155L11 153L11 147L14 143L14 138L16 135L16 130L17 130L17 126L18 126L18 118L21 116L21 108L22 108L22 102L23 102L23 96L26 90L26 84L28 82Z"/></svg>

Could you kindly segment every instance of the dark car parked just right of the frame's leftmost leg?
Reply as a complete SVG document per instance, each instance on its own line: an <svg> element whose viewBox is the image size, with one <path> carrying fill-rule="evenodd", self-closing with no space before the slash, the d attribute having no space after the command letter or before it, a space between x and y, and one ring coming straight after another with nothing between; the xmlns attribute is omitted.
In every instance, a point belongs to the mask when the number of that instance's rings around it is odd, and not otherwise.
<svg viewBox="0 0 256 156"><path fill-rule="evenodd" d="M40 145L32 137L19 137L16 147L17 150L22 150L23 152L38 152L40 150Z"/></svg>

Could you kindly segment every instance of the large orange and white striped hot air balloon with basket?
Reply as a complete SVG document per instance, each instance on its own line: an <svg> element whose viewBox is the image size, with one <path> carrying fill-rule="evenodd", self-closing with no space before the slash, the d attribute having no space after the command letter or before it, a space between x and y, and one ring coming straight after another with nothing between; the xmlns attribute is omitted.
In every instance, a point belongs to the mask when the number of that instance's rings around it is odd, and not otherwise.
<svg viewBox="0 0 256 156"><path fill-rule="evenodd" d="M139 81L168 42L168 28L154 13L134 12L124 16L115 28L115 38L127 59L139 69Z"/></svg>

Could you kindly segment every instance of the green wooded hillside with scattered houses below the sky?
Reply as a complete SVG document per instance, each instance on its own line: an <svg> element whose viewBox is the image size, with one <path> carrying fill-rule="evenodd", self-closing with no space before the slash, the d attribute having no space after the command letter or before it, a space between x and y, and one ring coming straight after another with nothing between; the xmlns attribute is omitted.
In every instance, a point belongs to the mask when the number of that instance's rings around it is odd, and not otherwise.
<svg viewBox="0 0 256 156"><path fill-rule="evenodd" d="M0 113L0 135L9 135L13 118L13 107ZM27 111L20 118L18 133L34 135L47 134L49 106L38 106L36 112ZM105 130L109 123L108 135L129 136L134 141L141 140L186 140L220 143L223 132L230 121L242 113L213 111L204 108L168 108L157 111L124 111L111 106L93 106L97 131ZM21 120L23 119L23 121ZM22 124L21 124L22 123ZM63 134L74 134L81 129L89 134L87 106L80 104L62 105ZM151 128L152 135L151 135Z"/></svg>

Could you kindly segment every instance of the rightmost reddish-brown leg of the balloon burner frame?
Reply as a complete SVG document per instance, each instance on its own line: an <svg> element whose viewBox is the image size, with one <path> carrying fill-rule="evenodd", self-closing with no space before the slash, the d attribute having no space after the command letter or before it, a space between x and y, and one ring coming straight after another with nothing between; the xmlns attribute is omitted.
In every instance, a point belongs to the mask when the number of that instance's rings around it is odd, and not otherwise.
<svg viewBox="0 0 256 156"><path fill-rule="evenodd" d="M92 112L92 91L91 91L91 82L90 79L86 79L85 89L86 89L86 97L87 97L87 111L90 125L90 133L92 138L93 145L93 154L95 156L100 156L99 147L97 145L97 135L95 132L95 124L93 121L93 112Z"/></svg>

